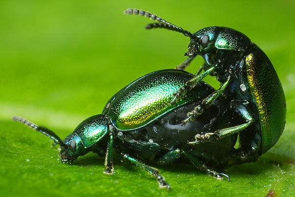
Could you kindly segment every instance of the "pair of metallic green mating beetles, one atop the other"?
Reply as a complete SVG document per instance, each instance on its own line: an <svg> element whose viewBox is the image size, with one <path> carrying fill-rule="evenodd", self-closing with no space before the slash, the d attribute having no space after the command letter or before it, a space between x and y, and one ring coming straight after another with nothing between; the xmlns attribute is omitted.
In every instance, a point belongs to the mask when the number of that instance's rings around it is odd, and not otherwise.
<svg viewBox="0 0 295 197"><path fill-rule="evenodd" d="M47 128L13 119L53 138L61 147L62 162L93 151L105 155L105 173L112 174L114 148L168 188L164 177L140 160L167 164L183 155L213 177L229 180L215 169L256 161L275 144L285 125L285 97L267 56L249 38L223 27L190 33L143 10L125 13L158 22L148 29L189 36L188 59L177 68L185 69L201 55L205 64L196 76L181 70L150 73L120 90L102 114L83 121L64 140ZM221 82L218 90L202 81L209 74ZM235 149L237 137L240 147Z"/></svg>

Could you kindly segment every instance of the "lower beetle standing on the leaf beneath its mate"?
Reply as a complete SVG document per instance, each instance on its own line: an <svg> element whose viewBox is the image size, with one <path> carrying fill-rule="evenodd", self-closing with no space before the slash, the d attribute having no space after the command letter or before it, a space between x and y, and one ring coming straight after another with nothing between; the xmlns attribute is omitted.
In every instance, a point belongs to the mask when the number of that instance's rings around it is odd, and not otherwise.
<svg viewBox="0 0 295 197"><path fill-rule="evenodd" d="M233 121L236 112L227 107L223 97L217 98L210 110L205 110L194 121L182 126L192 106L214 92L207 83L200 81L184 97L170 104L173 93L194 75L176 69L149 73L115 94L104 107L102 114L84 120L64 140L53 131L14 116L14 121L40 131L59 144L60 161L72 164L89 151L105 156L106 170L113 174L113 149L124 159L145 169L156 177L160 187L170 185L156 168L142 161L158 164L172 163L180 157L189 159L197 168L217 179L230 177L215 170L232 164L235 156L237 134L216 139L205 144L189 144L196 134L205 134L238 123ZM242 121L242 117L240 117Z"/></svg>

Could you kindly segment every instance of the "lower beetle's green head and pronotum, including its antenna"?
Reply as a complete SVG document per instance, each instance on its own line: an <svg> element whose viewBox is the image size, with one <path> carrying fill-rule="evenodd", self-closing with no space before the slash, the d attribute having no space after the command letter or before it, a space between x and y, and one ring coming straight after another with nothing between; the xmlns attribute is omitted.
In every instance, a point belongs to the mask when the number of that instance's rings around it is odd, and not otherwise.
<svg viewBox="0 0 295 197"><path fill-rule="evenodd" d="M63 163L71 164L79 156L87 154L90 150L100 155L105 152L107 141L104 136L109 131L109 125L106 116L103 114L95 115L84 120L64 140L61 140L55 132L45 127L39 127L24 118L14 116L12 119L54 139L53 145L59 144L61 148L59 156L60 161Z"/></svg>

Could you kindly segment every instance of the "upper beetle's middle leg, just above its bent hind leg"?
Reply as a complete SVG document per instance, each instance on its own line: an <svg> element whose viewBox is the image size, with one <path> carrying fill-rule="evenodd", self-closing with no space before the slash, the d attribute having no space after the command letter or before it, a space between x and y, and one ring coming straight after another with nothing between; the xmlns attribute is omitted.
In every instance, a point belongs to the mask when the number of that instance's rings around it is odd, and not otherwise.
<svg viewBox="0 0 295 197"><path fill-rule="evenodd" d="M205 98L201 105L198 105L194 108L193 111L187 113L187 118L182 121L182 125L185 125L188 121L194 121L197 116L203 113L204 107L209 108L213 102L224 92L227 85L229 84L231 77L229 76L227 81L220 86L218 90L210 94L207 98Z"/></svg>

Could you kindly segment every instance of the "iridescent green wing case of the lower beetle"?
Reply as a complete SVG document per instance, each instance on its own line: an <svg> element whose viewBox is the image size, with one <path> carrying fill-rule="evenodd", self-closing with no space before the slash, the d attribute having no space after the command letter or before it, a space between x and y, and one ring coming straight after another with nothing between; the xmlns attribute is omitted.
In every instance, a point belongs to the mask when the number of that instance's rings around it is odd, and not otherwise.
<svg viewBox="0 0 295 197"><path fill-rule="evenodd" d="M180 70L159 70L149 73L121 89L107 103L103 114L107 115L120 131L139 129L165 113L193 100L206 98L213 88L199 83L185 98L175 104L170 102L173 93L194 75Z"/></svg>

